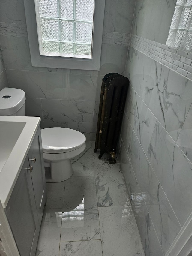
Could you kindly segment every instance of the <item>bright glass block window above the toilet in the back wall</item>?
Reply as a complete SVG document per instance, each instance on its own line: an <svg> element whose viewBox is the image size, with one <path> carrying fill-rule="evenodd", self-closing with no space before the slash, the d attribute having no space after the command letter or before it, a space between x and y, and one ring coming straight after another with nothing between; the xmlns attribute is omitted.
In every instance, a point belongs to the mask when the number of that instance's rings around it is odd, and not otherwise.
<svg viewBox="0 0 192 256"><path fill-rule="evenodd" d="M94 0L35 0L40 54L91 58Z"/></svg>

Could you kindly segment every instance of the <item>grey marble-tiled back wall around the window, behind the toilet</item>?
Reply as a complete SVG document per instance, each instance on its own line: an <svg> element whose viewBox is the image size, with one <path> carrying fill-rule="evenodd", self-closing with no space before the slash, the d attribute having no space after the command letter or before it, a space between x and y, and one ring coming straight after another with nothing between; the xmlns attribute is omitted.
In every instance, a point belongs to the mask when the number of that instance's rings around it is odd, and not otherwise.
<svg viewBox="0 0 192 256"><path fill-rule="evenodd" d="M100 71L32 67L23 0L0 3L0 42L9 87L26 92L26 115L95 140L101 80L124 74L135 0L106 0Z"/></svg>

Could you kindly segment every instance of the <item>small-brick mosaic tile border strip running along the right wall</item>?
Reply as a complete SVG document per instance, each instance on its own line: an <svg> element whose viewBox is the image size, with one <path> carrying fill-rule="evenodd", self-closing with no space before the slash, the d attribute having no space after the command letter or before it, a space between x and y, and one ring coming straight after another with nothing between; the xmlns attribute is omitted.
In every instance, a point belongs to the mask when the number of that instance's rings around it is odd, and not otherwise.
<svg viewBox="0 0 192 256"><path fill-rule="evenodd" d="M192 53L131 35L130 46L192 80Z"/></svg>

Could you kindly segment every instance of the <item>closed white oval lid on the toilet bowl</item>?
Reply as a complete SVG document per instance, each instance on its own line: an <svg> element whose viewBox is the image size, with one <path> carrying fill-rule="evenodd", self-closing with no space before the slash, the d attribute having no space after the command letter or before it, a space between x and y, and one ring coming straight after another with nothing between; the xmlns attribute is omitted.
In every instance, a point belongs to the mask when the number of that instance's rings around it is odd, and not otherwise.
<svg viewBox="0 0 192 256"><path fill-rule="evenodd" d="M53 127L41 130L44 153L64 153L81 147L86 137L79 131L69 128Z"/></svg>

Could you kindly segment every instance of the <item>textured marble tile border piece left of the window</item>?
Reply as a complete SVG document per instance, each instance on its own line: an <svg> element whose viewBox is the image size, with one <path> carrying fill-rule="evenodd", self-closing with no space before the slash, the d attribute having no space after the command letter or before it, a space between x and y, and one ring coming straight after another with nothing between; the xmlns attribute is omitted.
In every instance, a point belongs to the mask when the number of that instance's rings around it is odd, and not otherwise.
<svg viewBox="0 0 192 256"><path fill-rule="evenodd" d="M0 35L27 37L27 25L0 22Z"/></svg>

